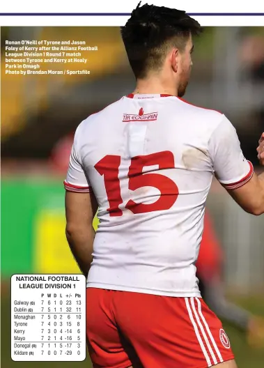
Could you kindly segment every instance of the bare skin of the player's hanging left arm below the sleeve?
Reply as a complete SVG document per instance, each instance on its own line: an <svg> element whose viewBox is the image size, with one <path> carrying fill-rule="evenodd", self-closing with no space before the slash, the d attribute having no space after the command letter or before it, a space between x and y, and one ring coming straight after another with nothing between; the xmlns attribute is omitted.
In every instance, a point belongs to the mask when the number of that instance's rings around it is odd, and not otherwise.
<svg viewBox="0 0 264 368"><path fill-rule="evenodd" d="M87 276L91 266L93 240L93 217L98 204L93 192L65 193L66 237L70 250L75 257L81 272Z"/></svg>

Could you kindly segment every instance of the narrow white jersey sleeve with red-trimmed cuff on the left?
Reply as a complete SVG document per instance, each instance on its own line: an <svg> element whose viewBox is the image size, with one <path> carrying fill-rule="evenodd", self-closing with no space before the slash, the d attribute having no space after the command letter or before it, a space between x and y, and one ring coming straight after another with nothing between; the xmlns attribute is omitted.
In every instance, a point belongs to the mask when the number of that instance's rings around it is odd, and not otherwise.
<svg viewBox="0 0 264 368"><path fill-rule="evenodd" d="M68 172L64 183L65 190L69 192L91 192L92 188L88 182L87 175L81 164L78 152L79 146L79 127L75 132L75 138L72 144L72 151L70 153L70 162Z"/></svg>

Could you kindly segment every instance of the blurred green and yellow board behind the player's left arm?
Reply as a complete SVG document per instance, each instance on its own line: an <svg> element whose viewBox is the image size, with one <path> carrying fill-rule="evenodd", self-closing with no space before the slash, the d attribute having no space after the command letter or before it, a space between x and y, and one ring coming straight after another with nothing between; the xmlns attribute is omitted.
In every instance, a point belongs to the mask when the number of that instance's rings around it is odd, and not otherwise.
<svg viewBox="0 0 264 368"><path fill-rule="evenodd" d="M2 277L79 272L65 239L64 193L60 181L2 180Z"/></svg>

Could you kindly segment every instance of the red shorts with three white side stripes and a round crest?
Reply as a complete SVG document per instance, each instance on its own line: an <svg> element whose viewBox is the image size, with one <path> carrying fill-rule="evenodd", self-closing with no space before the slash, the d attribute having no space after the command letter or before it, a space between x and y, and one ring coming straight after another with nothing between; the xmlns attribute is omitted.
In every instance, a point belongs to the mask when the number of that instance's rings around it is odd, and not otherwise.
<svg viewBox="0 0 264 368"><path fill-rule="evenodd" d="M86 291L94 368L205 368L234 358L222 323L201 298Z"/></svg>

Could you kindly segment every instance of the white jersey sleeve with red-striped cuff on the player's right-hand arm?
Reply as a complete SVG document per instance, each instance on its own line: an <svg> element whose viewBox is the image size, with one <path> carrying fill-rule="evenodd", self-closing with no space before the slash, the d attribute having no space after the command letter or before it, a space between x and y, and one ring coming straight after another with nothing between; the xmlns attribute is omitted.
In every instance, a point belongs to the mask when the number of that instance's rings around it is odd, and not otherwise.
<svg viewBox="0 0 264 368"><path fill-rule="evenodd" d="M244 158L235 128L224 115L210 137L209 153L215 177L228 190L242 187L254 174L253 165Z"/></svg>

